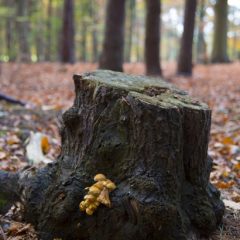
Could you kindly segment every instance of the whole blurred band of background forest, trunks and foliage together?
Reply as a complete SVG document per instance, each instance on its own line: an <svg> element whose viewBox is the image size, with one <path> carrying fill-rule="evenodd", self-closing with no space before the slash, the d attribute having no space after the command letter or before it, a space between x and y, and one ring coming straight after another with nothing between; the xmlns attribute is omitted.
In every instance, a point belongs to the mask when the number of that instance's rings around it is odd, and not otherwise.
<svg viewBox="0 0 240 240"><path fill-rule="evenodd" d="M160 59L179 59L178 72L188 74L195 62L237 60L239 1L186 1L186 8L184 4L0 0L0 61L98 62L101 56L102 68L121 71L124 61L145 61L148 74L160 75Z"/></svg>

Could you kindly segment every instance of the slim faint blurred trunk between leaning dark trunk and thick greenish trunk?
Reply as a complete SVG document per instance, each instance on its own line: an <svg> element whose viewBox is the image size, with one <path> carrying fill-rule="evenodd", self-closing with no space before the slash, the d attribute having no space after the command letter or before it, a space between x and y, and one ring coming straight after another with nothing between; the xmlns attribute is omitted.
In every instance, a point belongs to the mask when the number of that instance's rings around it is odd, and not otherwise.
<svg viewBox="0 0 240 240"><path fill-rule="evenodd" d="M199 27L197 37L197 62L207 63L207 45L204 38L204 15L205 15L205 0L201 0L200 14L199 14Z"/></svg>

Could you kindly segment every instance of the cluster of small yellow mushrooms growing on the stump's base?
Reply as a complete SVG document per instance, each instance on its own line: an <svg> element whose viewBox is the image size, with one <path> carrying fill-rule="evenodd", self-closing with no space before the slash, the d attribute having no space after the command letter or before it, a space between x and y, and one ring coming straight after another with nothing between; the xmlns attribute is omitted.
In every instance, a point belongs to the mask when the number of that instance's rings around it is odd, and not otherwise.
<svg viewBox="0 0 240 240"><path fill-rule="evenodd" d="M96 183L91 187L85 188L88 193L79 205L80 210L86 211L88 215L92 215L100 204L111 207L109 193L116 188L116 185L101 173L94 177L94 181Z"/></svg>

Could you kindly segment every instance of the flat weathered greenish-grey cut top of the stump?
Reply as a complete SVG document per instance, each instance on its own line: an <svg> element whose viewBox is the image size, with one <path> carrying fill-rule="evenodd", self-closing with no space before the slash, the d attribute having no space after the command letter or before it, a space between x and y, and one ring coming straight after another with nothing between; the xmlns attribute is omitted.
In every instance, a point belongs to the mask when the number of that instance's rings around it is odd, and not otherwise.
<svg viewBox="0 0 240 240"><path fill-rule="evenodd" d="M189 97L185 91L157 77L96 70L84 74L75 74L73 78L76 89L79 81L85 81L93 85L95 92L101 86L123 90L140 101L162 108L186 107L196 110L209 110L207 104Z"/></svg>

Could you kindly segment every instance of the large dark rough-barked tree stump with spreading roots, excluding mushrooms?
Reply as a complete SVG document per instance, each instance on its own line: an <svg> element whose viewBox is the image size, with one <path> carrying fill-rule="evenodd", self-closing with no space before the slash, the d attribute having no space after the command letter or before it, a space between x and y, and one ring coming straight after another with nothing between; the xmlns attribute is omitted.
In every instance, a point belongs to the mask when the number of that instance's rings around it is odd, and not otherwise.
<svg viewBox="0 0 240 240"><path fill-rule="evenodd" d="M0 184L18 178L11 198L21 197L41 239L179 240L213 231L224 205L209 183L208 106L160 79L98 70L74 82L58 160L0 172ZM88 216L79 203L97 173L117 188L111 208Z"/></svg>

